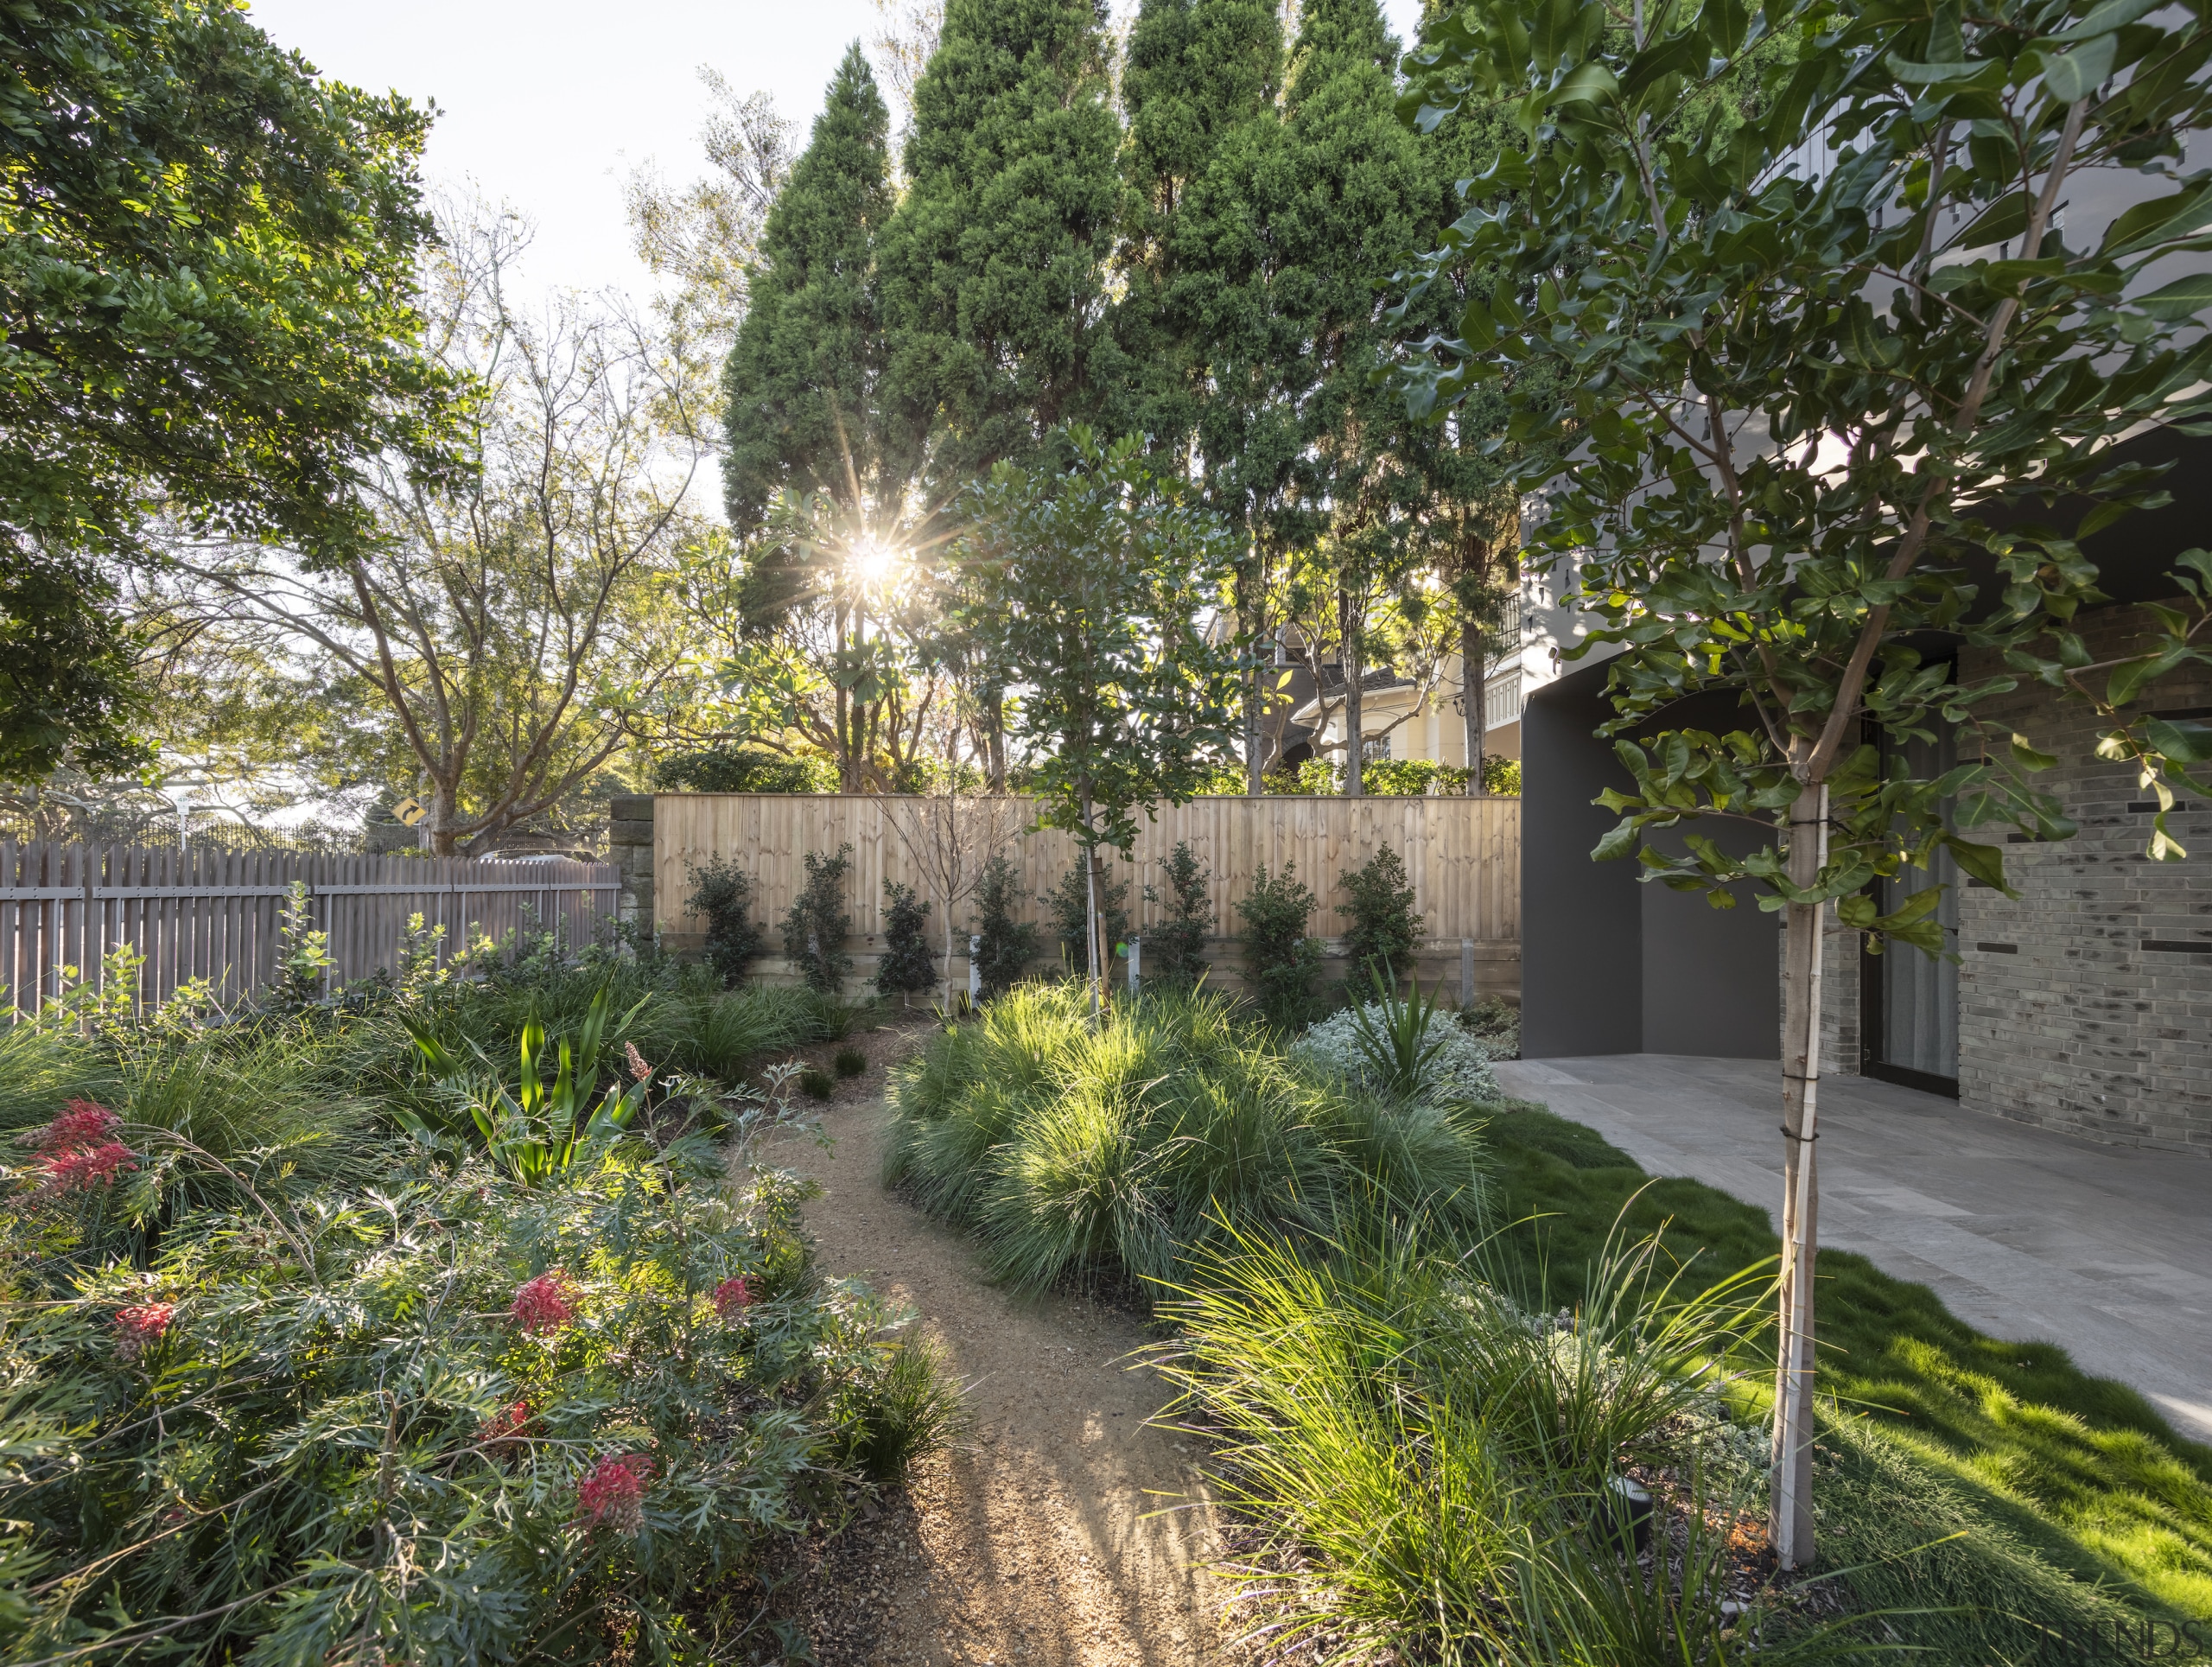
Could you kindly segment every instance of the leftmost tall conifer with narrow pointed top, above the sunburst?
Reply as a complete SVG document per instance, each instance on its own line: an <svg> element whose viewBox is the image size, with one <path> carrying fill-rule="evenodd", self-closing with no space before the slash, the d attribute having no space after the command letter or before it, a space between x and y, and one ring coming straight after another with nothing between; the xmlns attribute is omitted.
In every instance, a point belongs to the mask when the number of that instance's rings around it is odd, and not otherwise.
<svg viewBox="0 0 2212 1667"><path fill-rule="evenodd" d="M776 493L896 517L911 453L883 418L876 239L891 219L891 115L854 42L761 228L750 307L723 367L723 502L739 537ZM852 473L847 473L847 455Z"/></svg>

